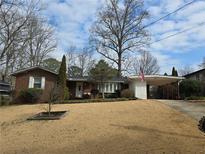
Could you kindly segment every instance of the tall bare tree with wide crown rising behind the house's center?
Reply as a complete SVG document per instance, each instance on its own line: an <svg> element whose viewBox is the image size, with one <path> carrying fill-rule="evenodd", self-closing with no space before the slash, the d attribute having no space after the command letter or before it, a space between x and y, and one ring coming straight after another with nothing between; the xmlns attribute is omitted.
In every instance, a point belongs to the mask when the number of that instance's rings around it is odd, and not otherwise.
<svg viewBox="0 0 205 154"><path fill-rule="evenodd" d="M91 43L98 53L117 65L118 76L121 76L126 53L138 51L149 40L143 29L147 17L143 1L109 0L93 24Z"/></svg>

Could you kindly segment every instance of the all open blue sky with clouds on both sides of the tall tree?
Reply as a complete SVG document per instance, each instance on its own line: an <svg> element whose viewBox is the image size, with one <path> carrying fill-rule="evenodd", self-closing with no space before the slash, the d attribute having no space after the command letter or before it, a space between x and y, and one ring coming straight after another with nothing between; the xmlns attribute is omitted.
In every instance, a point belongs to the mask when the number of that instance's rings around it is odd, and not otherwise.
<svg viewBox="0 0 205 154"><path fill-rule="evenodd" d="M97 10L105 0L43 0L44 15L54 27L58 47L53 53L62 57L71 45L86 46L89 29L96 19ZM172 12L191 0L145 0L150 13L148 23ZM198 0L169 18L149 27L152 41L205 22L205 0ZM205 56L205 25L170 39L152 44L148 50L158 59L161 73L190 65L195 70ZM97 54L96 54L97 56Z"/></svg>

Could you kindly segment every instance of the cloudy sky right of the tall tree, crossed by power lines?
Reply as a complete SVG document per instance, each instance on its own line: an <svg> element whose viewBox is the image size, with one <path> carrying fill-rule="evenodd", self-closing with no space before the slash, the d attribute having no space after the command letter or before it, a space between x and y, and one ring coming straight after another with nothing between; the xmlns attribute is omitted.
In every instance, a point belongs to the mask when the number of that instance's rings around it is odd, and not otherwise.
<svg viewBox="0 0 205 154"><path fill-rule="evenodd" d="M151 20L156 20L188 2L183 0L161 0L159 5L150 7L150 14L154 16ZM205 25L197 27L197 24L202 22L205 22L205 1L201 0L192 3L149 28L152 41L156 41L184 29L195 27L186 33L153 43L150 46L148 50L153 51L153 55L158 58L162 67L161 73L166 70L170 71L173 66L181 68L190 62L190 60L183 59L184 54L192 52L194 55L197 54L196 49L205 48ZM174 58L176 55L178 55L177 59ZM205 56L205 53L202 56ZM186 63L184 63L185 61ZM190 65L195 69L197 68L197 62L194 62L194 64L191 62Z"/></svg>

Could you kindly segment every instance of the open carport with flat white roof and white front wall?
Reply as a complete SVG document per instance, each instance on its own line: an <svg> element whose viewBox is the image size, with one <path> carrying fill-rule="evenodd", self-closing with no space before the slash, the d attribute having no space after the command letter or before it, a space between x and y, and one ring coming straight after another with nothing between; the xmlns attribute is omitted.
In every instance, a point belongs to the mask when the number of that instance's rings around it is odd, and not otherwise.
<svg viewBox="0 0 205 154"><path fill-rule="evenodd" d="M179 82L184 77L162 76L162 75L145 75L144 81L140 76L129 77L129 89L133 91L134 96L140 99L163 98L176 99L179 96ZM155 95L152 90L156 88Z"/></svg>

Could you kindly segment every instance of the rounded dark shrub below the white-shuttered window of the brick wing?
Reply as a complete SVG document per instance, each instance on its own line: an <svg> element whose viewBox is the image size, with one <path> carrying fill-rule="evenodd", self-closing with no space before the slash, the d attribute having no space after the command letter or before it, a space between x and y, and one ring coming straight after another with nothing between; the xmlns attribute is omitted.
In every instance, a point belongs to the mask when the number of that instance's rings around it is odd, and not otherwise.
<svg viewBox="0 0 205 154"><path fill-rule="evenodd" d="M42 92L42 89L29 88L20 91L19 98L26 103L35 103L40 99Z"/></svg>

